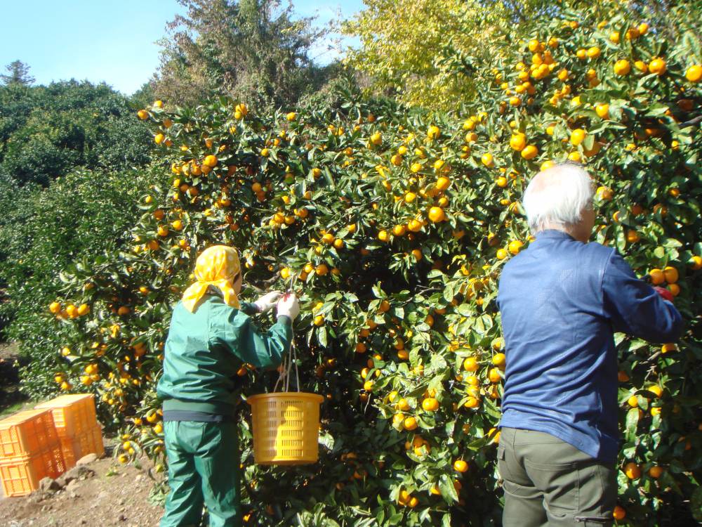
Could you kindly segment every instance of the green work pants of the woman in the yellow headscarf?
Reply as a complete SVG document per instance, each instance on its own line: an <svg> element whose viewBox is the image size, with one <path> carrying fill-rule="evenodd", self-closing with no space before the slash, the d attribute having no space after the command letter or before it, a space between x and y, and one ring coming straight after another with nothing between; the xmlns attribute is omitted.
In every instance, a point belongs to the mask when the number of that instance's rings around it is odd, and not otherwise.
<svg viewBox="0 0 702 527"><path fill-rule="evenodd" d="M233 422L164 422L168 485L161 527L240 527L239 445Z"/></svg>

